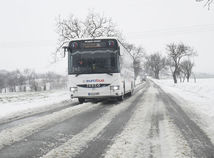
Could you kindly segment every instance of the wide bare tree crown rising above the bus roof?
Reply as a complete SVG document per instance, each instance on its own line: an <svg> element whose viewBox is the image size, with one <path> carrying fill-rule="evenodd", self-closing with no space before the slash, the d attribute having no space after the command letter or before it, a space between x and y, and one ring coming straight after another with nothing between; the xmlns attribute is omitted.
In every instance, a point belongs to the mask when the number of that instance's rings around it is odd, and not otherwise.
<svg viewBox="0 0 214 158"><path fill-rule="evenodd" d="M54 56L61 48L76 38L118 37L122 39L120 31L111 18L98 13L89 12L84 20L71 15L67 19L57 19L58 47Z"/></svg>

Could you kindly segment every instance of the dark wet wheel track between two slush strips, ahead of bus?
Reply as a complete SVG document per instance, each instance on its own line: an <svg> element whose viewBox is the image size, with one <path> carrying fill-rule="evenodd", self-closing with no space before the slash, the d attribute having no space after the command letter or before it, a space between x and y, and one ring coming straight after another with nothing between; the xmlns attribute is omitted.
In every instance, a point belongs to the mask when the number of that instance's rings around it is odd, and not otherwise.
<svg viewBox="0 0 214 158"><path fill-rule="evenodd" d="M0 150L0 157L41 157L51 149L62 145L74 135L80 133L89 124L104 115L112 106L116 105L103 104L98 108L82 112L51 127L46 127L24 140L3 148Z"/></svg>

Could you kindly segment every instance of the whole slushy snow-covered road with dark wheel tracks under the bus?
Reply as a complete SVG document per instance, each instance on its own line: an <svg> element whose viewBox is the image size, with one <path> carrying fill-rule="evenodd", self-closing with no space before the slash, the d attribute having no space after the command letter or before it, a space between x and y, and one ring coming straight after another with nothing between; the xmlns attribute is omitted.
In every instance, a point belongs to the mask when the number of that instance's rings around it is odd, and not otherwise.
<svg viewBox="0 0 214 158"><path fill-rule="evenodd" d="M66 102L32 116L0 124L0 157L214 157L204 130L153 81L123 102Z"/></svg>

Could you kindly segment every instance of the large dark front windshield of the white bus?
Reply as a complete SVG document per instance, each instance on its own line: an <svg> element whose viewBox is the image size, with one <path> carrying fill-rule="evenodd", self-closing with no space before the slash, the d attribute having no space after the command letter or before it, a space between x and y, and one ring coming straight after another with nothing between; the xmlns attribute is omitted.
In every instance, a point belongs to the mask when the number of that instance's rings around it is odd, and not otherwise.
<svg viewBox="0 0 214 158"><path fill-rule="evenodd" d="M117 51L76 51L70 55L69 74L117 73Z"/></svg>

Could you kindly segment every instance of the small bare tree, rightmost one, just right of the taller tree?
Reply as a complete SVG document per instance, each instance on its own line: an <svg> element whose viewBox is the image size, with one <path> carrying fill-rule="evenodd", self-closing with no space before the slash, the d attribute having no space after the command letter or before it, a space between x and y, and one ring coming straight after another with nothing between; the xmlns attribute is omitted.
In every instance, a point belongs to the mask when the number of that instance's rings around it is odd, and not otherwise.
<svg viewBox="0 0 214 158"><path fill-rule="evenodd" d="M192 68L194 66L194 63L190 60L184 60L180 64L180 69L184 74L184 77L187 79L187 82L189 82L189 78L192 74Z"/></svg>

